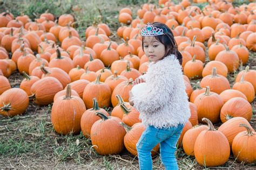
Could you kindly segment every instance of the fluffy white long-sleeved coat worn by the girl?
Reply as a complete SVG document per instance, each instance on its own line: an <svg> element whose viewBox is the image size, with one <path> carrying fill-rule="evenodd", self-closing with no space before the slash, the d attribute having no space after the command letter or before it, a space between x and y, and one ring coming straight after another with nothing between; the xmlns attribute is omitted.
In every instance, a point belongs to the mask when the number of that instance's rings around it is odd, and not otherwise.
<svg viewBox="0 0 256 170"><path fill-rule="evenodd" d="M176 56L151 62L141 77L146 81L146 89L140 95L133 94L132 100L143 124L155 128L185 125L190 118L190 107Z"/></svg>

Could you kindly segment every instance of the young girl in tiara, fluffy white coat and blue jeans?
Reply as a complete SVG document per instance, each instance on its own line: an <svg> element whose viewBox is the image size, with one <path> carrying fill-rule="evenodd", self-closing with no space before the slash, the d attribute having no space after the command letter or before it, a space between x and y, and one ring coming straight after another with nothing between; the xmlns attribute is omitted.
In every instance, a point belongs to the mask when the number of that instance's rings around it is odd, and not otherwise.
<svg viewBox="0 0 256 170"><path fill-rule="evenodd" d="M151 150L160 143L166 169L178 169L174 152L190 117L188 97L181 71L182 56L172 31L165 24L147 24L141 32L142 48L152 62L134 84L146 82L140 94L130 91L130 104L147 126L137 143L140 169L152 169Z"/></svg>

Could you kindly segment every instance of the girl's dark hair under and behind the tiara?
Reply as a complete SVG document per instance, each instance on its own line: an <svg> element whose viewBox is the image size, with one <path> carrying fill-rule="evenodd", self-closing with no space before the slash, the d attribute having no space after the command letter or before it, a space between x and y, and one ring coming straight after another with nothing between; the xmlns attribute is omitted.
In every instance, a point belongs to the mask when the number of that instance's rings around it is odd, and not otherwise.
<svg viewBox="0 0 256 170"><path fill-rule="evenodd" d="M180 65L182 65L182 55L178 51L177 42L174 39L172 31L169 29L169 27L165 24L154 22L151 25L154 27L157 27L158 29L163 29L164 35L161 36L154 36L156 40L161 42L165 46L165 56L174 54L177 59L179 60ZM144 51L143 47L143 37L142 37L142 49Z"/></svg>

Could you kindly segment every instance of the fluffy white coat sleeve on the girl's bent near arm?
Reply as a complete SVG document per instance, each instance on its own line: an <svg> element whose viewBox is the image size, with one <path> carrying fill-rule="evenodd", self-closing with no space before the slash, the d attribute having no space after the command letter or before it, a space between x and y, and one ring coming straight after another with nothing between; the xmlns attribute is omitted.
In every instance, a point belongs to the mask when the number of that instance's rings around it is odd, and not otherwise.
<svg viewBox="0 0 256 170"><path fill-rule="evenodd" d="M139 95L133 94L134 107L139 112L156 112L163 105L168 104L173 93L176 74L179 70L181 72L181 68L173 62L178 60L171 55L149 66L147 73L143 75L143 79L146 80L145 90Z"/></svg>

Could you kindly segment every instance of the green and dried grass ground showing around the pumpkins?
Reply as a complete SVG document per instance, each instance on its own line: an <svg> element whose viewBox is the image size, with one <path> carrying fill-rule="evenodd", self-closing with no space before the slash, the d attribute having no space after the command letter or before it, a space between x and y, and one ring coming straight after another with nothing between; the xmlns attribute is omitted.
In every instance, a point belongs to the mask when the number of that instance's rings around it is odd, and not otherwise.
<svg viewBox="0 0 256 170"><path fill-rule="evenodd" d="M0 12L9 10L15 16L22 13L35 19L49 9L56 17L63 13L75 16L75 27L81 39L84 32L93 21L100 20L108 24L112 30L111 39L120 41L115 32L120 26L118 11L126 6L134 14L146 0L116 0L116 1L8 1L0 0ZM151 1L157 4L157 0ZM174 1L177 2L177 1ZM241 3L237 1L236 3ZM203 8L207 3L198 4ZM77 7L78 11L73 10ZM133 16L135 18L135 15ZM256 53L250 53L248 65L256 69ZM245 66L242 66L244 69ZM237 73L241 68L237 71ZM229 74L228 80L233 86L237 73ZM22 76L18 72L9 77L12 87L19 87ZM191 81L192 84L197 80ZM252 103L254 115L250 122L256 128L256 100ZM111 108L107 108L110 112ZM124 150L120 155L101 156L93 150L91 140L80 133L76 136L57 134L51 124L51 105L38 107L30 103L23 115L15 117L0 116L0 167L3 168L88 168L88 169L138 169L138 159ZM180 169L201 169L197 161L187 156L181 148L177 150L177 160ZM159 155L153 158L154 169L163 169ZM244 165L235 162L231 155L228 162L219 169L255 168L256 164ZM209 168L207 168L209 169Z"/></svg>

